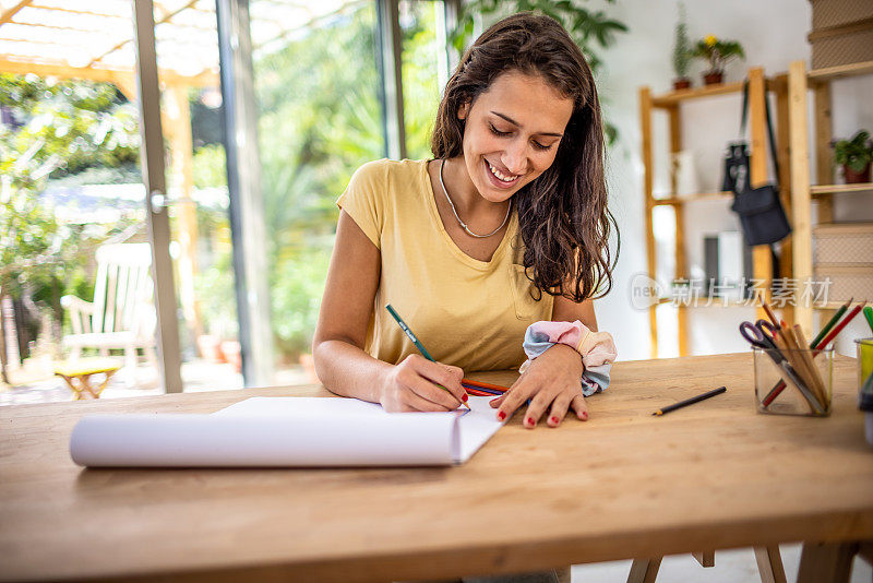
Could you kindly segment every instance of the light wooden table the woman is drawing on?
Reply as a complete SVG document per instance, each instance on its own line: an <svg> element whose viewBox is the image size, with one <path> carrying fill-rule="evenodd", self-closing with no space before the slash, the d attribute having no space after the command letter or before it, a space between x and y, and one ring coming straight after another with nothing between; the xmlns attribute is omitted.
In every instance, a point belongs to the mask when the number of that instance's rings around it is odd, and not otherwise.
<svg viewBox="0 0 873 583"><path fill-rule="evenodd" d="M832 550L873 538L854 360L837 360L822 419L755 413L749 355L613 370L589 421L531 432L516 416L451 468L94 471L68 453L85 413L208 413L319 386L0 407L0 578L397 581L798 540L835 543L806 564L833 574Z"/></svg>

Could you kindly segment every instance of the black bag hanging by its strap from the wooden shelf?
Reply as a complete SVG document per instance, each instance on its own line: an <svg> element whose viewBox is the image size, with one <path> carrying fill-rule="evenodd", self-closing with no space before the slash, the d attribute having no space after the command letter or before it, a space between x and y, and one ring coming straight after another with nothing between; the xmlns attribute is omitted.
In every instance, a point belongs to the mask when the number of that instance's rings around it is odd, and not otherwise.
<svg viewBox="0 0 873 583"><path fill-rule="evenodd" d="M773 123L770 122L770 106L766 96L764 97L765 111L767 116L767 133L770 141L770 154L773 155L773 164L776 169L776 176L779 176L779 158L776 156L776 141L773 136ZM745 132L745 118L749 108L749 82L746 81L743 87L743 115L740 122L740 134ZM782 209L782 202L779 199L779 189L773 185L766 185L761 188L752 189L749 187L749 156L742 155L745 151L744 143L734 143L730 145L733 148L742 150L743 152L731 158L734 164L731 166L733 188L726 189L733 191L733 204L731 210L740 217L740 225L743 229L743 235L749 245L770 245L785 239L791 233L791 225L788 224L788 217ZM726 170L728 170L728 159L726 159ZM726 185L728 182L728 175L725 177Z"/></svg>

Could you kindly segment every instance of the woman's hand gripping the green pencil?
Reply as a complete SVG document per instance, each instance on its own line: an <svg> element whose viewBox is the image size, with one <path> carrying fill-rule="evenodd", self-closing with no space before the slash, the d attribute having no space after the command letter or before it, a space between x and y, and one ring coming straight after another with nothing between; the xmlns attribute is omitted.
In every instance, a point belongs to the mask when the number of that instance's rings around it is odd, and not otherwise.
<svg viewBox="0 0 873 583"><path fill-rule="evenodd" d="M458 367L412 354L387 374L379 402L390 413L455 411L467 401L467 392L461 385L463 378L464 371Z"/></svg>

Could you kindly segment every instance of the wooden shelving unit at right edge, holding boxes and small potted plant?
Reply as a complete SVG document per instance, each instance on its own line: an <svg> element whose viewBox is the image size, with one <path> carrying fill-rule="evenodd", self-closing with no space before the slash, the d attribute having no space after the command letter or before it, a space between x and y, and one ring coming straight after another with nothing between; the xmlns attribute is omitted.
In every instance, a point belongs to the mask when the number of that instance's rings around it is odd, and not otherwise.
<svg viewBox="0 0 873 583"><path fill-rule="evenodd" d="M834 195L847 192L868 192L873 194L873 182L860 185L822 183L811 185L810 179L810 143L806 119L808 92L813 94L815 124L814 153L820 181L830 182L834 179L830 140L832 129L832 91L830 83L837 79L873 74L873 61L866 61L827 69L806 70L804 61L794 61L788 71L789 123L791 140L791 225L794 231L793 272L798 282L813 277L813 224L812 203L817 204L818 223L832 223L834 217ZM870 298L873 300L873 289ZM803 306L796 302L794 321L803 326L804 332L812 332L813 312L815 310L834 310L841 302L830 301L825 305ZM823 313L824 318L829 314Z"/></svg>

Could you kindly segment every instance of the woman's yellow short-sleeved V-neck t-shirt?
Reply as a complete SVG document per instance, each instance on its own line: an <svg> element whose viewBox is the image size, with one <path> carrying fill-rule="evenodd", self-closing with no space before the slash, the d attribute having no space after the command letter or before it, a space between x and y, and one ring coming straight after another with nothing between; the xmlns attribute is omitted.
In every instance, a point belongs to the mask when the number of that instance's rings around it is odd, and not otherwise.
<svg viewBox="0 0 873 583"><path fill-rule="evenodd" d="M336 202L382 255L364 349L392 364L418 353L385 309L391 304L440 362L517 368L525 330L551 319L554 298L530 295L516 212L491 261L473 259L445 231L427 168L427 160L364 164Z"/></svg>

